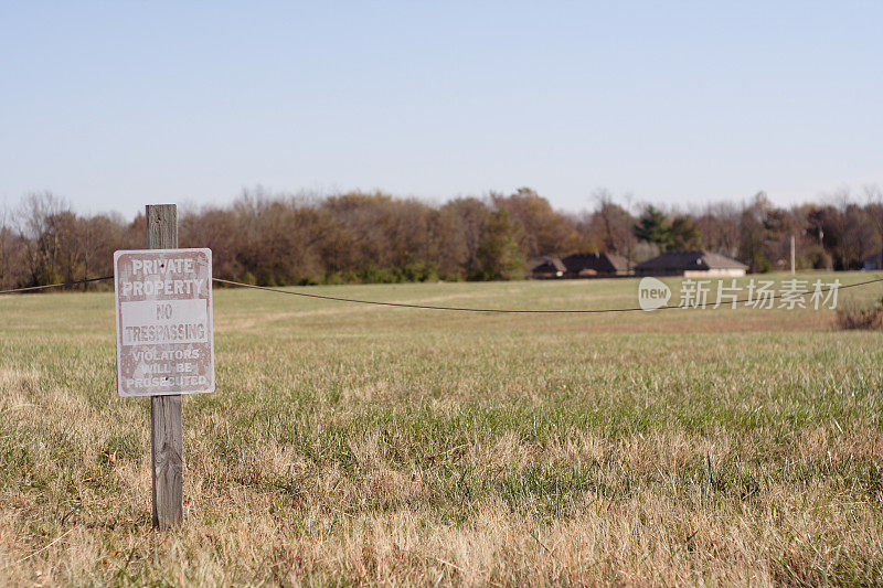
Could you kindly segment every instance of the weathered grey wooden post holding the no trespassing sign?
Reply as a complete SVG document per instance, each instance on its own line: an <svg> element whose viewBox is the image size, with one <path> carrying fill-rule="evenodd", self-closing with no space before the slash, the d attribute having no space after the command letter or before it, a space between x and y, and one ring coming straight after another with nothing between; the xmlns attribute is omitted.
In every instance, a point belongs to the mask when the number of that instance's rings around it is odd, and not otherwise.
<svg viewBox="0 0 883 588"><path fill-rule="evenodd" d="M147 248L178 248L178 206L148 204ZM150 397L150 478L153 528L169 528L184 516L181 395Z"/></svg>

